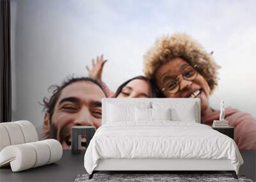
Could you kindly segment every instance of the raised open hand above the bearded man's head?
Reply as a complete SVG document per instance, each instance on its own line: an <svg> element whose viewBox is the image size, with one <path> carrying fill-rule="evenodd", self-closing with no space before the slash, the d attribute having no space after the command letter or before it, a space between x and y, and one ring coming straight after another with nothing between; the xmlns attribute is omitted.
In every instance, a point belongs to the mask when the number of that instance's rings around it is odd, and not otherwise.
<svg viewBox="0 0 256 182"><path fill-rule="evenodd" d="M108 61L107 59L104 60L103 54L100 57L97 56L96 63L95 63L95 59L92 59L92 68L90 69L89 66L86 65L86 70L87 70L89 76L92 79L96 79L99 82L101 82L103 66L107 61Z"/></svg>

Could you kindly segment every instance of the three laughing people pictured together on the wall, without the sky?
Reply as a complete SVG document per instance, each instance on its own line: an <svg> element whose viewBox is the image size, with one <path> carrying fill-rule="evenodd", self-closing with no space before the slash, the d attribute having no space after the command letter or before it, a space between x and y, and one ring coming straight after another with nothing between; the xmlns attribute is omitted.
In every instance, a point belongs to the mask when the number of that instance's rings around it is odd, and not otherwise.
<svg viewBox="0 0 256 182"><path fill-rule="evenodd" d="M58 139L64 149L70 149L72 126L101 125L102 98L200 98L201 122L211 126L220 117L220 110L212 109L209 98L218 86L221 66L212 54L188 34L163 36L144 54L144 75L124 80L116 91L102 81L108 62L99 56L86 66L90 77L71 77L50 87L52 95L44 98L44 138ZM256 149L255 118L228 107L225 119L235 128L239 149ZM83 136L83 147L85 141Z"/></svg>

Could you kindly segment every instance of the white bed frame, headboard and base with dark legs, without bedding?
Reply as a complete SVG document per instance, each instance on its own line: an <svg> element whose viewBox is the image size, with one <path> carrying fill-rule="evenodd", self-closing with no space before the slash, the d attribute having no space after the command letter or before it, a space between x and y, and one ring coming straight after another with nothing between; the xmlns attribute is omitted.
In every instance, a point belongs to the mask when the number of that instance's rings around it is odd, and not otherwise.
<svg viewBox="0 0 256 182"><path fill-rule="evenodd" d="M106 123L106 103L111 102L195 102L196 123L200 123L200 99L199 98L104 98L102 99L102 124ZM159 158L108 158L101 159L97 167L90 174L89 179L92 179L93 174L100 171L148 171L150 173L170 172L170 171L226 171L232 174L237 179L236 171L230 160L211 160L211 159L159 159Z"/></svg>

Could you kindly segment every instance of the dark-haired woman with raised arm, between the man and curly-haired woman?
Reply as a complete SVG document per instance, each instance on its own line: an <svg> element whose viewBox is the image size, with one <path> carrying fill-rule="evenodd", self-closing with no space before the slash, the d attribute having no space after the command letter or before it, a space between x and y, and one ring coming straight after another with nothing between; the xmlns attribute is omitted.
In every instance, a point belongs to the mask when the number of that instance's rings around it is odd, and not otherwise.
<svg viewBox="0 0 256 182"><path fill-rule="evenodd" d="M137 77L133 77L125 81L121 84L117 89L116 92L113 93L108 86L104 82L102 82L101 75L103 66L107 60L104 60L103 55L98 56L96 59L96 63L94 59L92 60L92 68L90 69L86 66L86 69L93 79L100 82L101 86L103 87L105 93L108 95L109 98L150 98L156 97L156 93L154 91L154 86L150 83L150 81L140 75Z"/></svg>

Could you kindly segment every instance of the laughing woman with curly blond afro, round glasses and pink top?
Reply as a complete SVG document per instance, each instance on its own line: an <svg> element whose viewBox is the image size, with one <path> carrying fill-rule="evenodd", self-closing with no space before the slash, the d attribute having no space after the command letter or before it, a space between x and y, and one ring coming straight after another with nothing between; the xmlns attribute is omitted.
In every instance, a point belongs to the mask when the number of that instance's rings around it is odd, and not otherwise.
<svg viewBox="0 0 256 182"><path fill-rule="evenodd" d="M212 125L220 110L209 105L209 96L218 86L218 69L213 57L187 34L159 38L144 56L143 72L166 98L200 98L201 121ZM228 107L225 119L235 128L239 149L256 149L256 119Z"/></svg>

